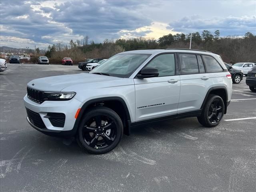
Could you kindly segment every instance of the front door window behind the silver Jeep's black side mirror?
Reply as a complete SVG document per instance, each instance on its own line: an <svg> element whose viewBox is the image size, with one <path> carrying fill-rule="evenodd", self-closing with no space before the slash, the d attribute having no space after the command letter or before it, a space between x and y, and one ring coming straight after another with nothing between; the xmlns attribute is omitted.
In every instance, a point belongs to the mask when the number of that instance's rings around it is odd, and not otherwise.
<svg viewBox="0 0 256 192"><path fill-rule="evenodd" d="M145 68L158 69L159 76L172 76L175 74L174 54L162 54L155 57Z"/></svg>

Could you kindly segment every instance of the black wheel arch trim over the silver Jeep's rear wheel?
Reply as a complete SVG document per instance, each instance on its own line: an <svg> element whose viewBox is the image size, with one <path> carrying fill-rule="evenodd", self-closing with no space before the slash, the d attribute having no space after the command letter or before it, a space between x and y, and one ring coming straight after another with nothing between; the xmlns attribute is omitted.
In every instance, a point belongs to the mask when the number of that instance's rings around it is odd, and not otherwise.
<svg viewBox="0 0 256 192"><path fill-rule="evenodd" d="M208 99L208 96L210 94L218 95L223 99L223 102L224 102L224 105L225 105L224 114L226 114L229 102L228 102L228 91L227 91L227 88L225 86L215 86L215 87L210 88L206 93L206 96L204 98L204 101L203 101L202 106L201 106L200 109L204 108L204 105L205 105L205 103Z"/></svg>

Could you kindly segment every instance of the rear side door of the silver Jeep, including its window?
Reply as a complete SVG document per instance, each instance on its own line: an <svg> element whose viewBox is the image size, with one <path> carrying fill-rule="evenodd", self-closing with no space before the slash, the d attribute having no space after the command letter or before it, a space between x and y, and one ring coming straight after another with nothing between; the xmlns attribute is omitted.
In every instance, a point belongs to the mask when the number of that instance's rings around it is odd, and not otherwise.
<svg viewBox="0 0 256 192"><path fill-rule="evenodd" d="M178 60L181 81L178 114L199 110L212 79L200 54L179 53Z"/></svg>

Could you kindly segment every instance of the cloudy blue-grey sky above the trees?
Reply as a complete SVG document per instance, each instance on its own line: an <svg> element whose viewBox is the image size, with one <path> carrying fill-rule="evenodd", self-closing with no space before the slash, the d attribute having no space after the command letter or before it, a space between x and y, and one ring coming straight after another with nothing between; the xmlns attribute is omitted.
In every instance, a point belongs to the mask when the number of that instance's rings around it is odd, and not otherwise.
<svg viewBox="0 0 256 192"><path fill-rule="evenodd" d="M256 1L0 1L0 46L43 49L86 35L102 42L202 30L256 34Z"/></svg>

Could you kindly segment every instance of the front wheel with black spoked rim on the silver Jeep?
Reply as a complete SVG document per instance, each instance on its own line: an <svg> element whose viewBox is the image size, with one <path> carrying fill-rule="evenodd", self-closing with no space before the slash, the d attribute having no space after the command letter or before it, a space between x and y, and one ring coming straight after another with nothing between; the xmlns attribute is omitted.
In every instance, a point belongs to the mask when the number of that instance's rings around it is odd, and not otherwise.
<svg viewBox="0 0 256 192"><path fill-rule="evenodd" d="M123 124L118 114L107 107L94 107L83 116L76 141L92 154L104 154L118 145L122 135Z"/></svg>

